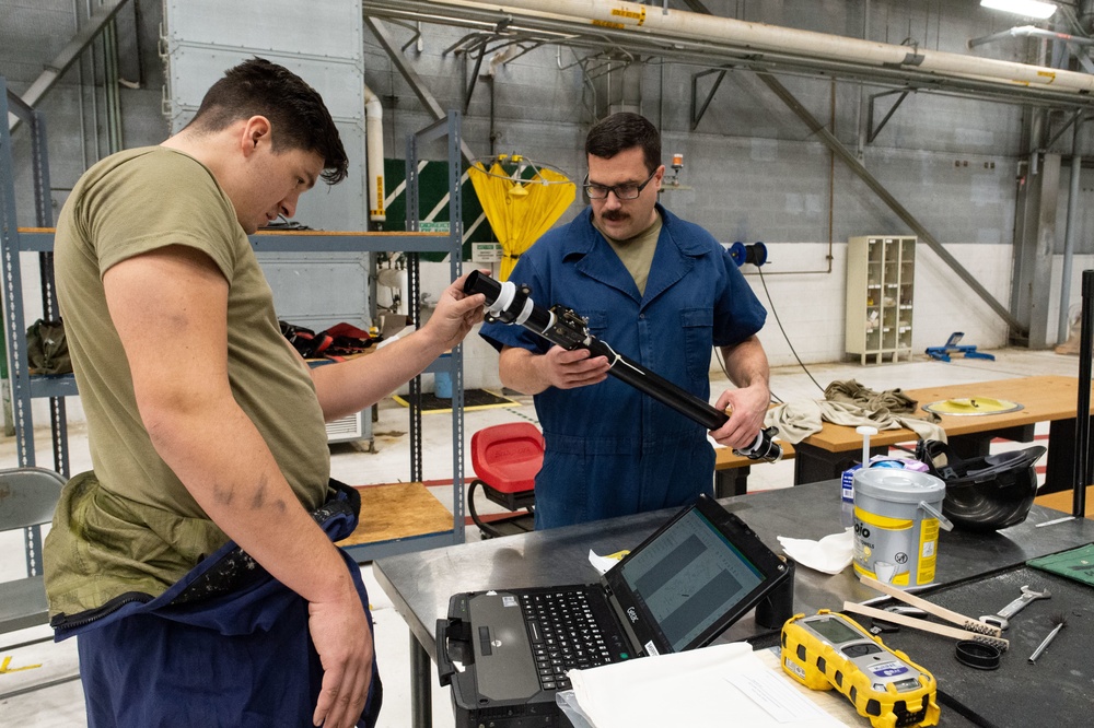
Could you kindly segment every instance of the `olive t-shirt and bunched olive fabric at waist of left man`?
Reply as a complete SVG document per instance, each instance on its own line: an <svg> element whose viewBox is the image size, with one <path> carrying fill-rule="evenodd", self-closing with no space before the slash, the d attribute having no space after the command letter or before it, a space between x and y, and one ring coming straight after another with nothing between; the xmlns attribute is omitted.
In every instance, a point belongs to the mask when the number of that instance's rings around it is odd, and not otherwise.
<svg viewBox="0 0 1094 728"><path fill-rule="evenodd" d="M94 472L65 489L46 540L51 614L128 591L159 595L228 541L152 447L106 307L103 274L168 245L201 250L223 273L232 395L304 507L326 495L330 456L315 388L281 336L272 293L231 200L208 168L181 152L151 146L114 154L77 183L54 248Z"/></svg>

